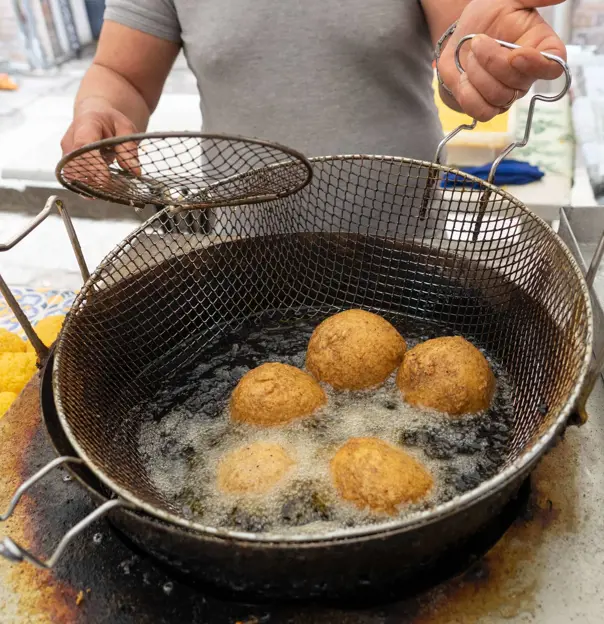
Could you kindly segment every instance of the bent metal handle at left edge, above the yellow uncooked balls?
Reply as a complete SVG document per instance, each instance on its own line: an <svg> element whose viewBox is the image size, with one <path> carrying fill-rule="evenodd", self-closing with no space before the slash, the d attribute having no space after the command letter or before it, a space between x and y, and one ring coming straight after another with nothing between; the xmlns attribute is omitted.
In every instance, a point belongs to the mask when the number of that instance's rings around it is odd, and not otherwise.
<svg viewBox="0 0 604 624"><path fill-rule="evenodd" d="M78 240L76 231L73 227L73 222L71 221L71 217L69 216L67 209L63 204L63 201L60 200L56 195L51 195L48 198L46 204L44 205L44 208L40 211L36 218L31 221L21 232L16 234L7 243L0 243L0 252L10 251L13 247L18 245L26 236L33 232L55 208L63 219L63 225L67 230L67 236L69 236L71 247L78 261L78 266L80 268L82 279L84 281L87 281L90 277L90 273L88 272L88 267L86 266L86 261L84 259L84 254L82 253L80 241ZM40 338L38 338L38 334L36 334L34 328L32 327L32 324L27 318L27 315L15 299L13 293L11 292L11 289L4 281L2 275L0 275L0 293L2 293L2 295L6 299L8 305L10 306L10 309L12 310L16 319L19 321L19 324L23 328L26 336L29 338L29 341L35 349L39 360L43 361L48 356L48 348L44 345Z"/></svg>

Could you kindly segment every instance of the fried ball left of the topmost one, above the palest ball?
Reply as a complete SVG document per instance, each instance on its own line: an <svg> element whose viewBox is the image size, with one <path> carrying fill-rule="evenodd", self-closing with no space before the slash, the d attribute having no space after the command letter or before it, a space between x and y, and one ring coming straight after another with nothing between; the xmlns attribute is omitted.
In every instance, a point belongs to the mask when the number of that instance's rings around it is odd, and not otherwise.
<svg viewBox="0 0 604 624"><path fill-rule="evenodd" d="M327 401L323 388L289 364L262 364L246 373L231 395L231 418L273 427L310 416Z"/></svg>

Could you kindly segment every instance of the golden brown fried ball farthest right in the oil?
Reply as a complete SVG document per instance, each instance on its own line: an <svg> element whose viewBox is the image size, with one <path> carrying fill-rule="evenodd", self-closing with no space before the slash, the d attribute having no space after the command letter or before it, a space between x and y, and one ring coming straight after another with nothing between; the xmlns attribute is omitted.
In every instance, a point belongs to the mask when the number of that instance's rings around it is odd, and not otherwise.
<svg viewBox="0 0 604 624"><path fill-rule="evenodd" d="M408 351L396 383L407 403L452 416L487 409L495 392L486 358L461 336L435 338Z"/></svg>

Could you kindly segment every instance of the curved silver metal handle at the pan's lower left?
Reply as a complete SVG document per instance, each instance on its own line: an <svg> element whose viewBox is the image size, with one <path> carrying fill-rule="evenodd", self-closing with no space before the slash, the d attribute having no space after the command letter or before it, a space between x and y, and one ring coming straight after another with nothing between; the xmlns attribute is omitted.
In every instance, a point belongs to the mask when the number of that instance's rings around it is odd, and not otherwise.
<svg viewBox="0 0 604 624"><path fill-rule="evenodd" d="M42 477L47 475L56 467L67 463L84 464L84 461L81 460L79 457L63 456L57 457L50 463L46 464L46 466L39 470L35 475L27 479L27 481L22 483L21 486L16 490L8 505L7 511L4 514L0 515L0 521L3 522L12 516L15 508L21 500L21 497L23 496L23 494L25 494L25 492L27 492L27 490L29 490L32 485L37 483ZM28 561L29 563L33 563L39 568L50 569L57 563L57 561L60 559L61 555L65 551L65 548L67 548L69 543L75 537L77 537L90 524L98 520L100 517L104 516L112 509L116 509L117 507L130 508L131 506L119 498L107 501L106 503L95 509L92 513L87 515L83 520L80 520L80 522L78 522L71 529L69 529L69 531L65 533L65 535L59 542L58 546L55 548L52 555L46 561L43 561L42 559L36 557L36 555L31 553L29 550L23 548L22 546L19 546L19 544L15 543L10 537L5 537L2 542L0 542L0 556L12 562Z"/></svg>

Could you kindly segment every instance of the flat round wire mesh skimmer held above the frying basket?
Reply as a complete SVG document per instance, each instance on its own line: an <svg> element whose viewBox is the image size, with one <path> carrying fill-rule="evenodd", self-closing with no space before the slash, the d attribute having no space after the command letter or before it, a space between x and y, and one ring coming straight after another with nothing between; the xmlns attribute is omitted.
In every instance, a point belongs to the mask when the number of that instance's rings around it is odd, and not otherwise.
<svg viewBox="0 0 604 624"><path fill-rule="evenodd" d="M67 154L59 182L77 193L144 208L191 209L284 197L312 177L307 159L266 141L200 133L106 139Z"/></svg>

